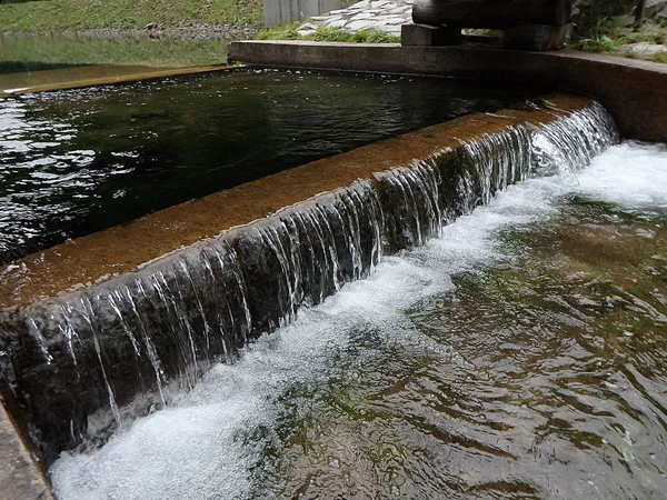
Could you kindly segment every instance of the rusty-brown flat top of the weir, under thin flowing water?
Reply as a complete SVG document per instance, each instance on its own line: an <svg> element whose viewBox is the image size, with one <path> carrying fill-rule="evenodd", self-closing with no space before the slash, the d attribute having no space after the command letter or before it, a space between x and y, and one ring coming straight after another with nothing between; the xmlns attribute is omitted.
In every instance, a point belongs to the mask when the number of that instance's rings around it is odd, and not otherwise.
<svg viewBox="0 0 667 500"><path fill-rule="evenodd" d="M551 96L554 109L576 110L587 98ZM560 112L560 111L559 111ZM471 114L318 160L160 210L127 224L33 253L0 269L0 311L90 288L222 231L250 223L316 194L374 179L447 148L519 122L545 123L557 112L535 109Z"/></svg>

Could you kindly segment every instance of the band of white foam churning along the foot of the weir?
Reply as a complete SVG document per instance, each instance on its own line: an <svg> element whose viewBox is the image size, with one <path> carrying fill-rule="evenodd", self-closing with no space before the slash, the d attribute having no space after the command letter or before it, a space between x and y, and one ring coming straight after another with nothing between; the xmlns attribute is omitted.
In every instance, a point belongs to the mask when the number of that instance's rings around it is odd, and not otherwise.
<svg viewBox="0 0 667 500"><path fill-rule="evenodd" d="M417 301L452 288L451 276L502 256L495 250L497 230L544 220L558 211L564 194L580 192L633 208L667 203L667 149L624 143L571 177L534 179L499 193L421 248L385 258L367 280L349 283L299 320L266 336L233 366L215 367L172 407L140 419L103 448L66 453L51 469L61 500L232 499L248 498L250 467L260 457L261 439L247 437L271 429L280 411L277 397L297 384L317 384L349 376L361 366L337 358L361 331L386 342L438 349L417 333L404 311ZM456 353L451 357L456 360ZM270 463L262 464L270 467Z"/></svg>

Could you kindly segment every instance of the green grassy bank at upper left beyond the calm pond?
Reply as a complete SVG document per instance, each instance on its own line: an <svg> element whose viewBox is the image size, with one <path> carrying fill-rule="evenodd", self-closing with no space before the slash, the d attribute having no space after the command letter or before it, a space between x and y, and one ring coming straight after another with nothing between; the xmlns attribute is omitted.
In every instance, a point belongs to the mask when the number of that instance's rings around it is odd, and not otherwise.
<svg viewBox="0 0 667 500"><path fill-rule="evenodd" d="M259 27L261 0L36 0L0 3L0 32L143 29L189 24Z"/></svg>

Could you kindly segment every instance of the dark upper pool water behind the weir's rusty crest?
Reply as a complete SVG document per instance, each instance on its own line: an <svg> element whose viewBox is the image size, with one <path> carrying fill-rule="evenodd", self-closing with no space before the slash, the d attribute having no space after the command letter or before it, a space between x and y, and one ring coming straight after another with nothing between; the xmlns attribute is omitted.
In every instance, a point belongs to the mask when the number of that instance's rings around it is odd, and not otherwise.
<svg viewBox="0 0 667 500"><path fill-rule="evenodd" d="M233 70L0 101L0 262L542 89Z"/></svg>

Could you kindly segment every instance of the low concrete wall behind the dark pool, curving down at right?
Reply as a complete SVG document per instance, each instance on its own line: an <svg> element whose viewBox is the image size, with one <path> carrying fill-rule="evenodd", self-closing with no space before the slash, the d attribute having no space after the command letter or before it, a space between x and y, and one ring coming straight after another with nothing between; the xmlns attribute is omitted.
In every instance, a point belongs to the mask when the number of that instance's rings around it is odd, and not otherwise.
<svg viewBox="0 0 667 500"><path fill-rule="evenodd" d="M242 41L230 61L259 66L501 78L554 84L598 99L628 139L667 142L667 64L578 51L488 47Z"/></svg>

